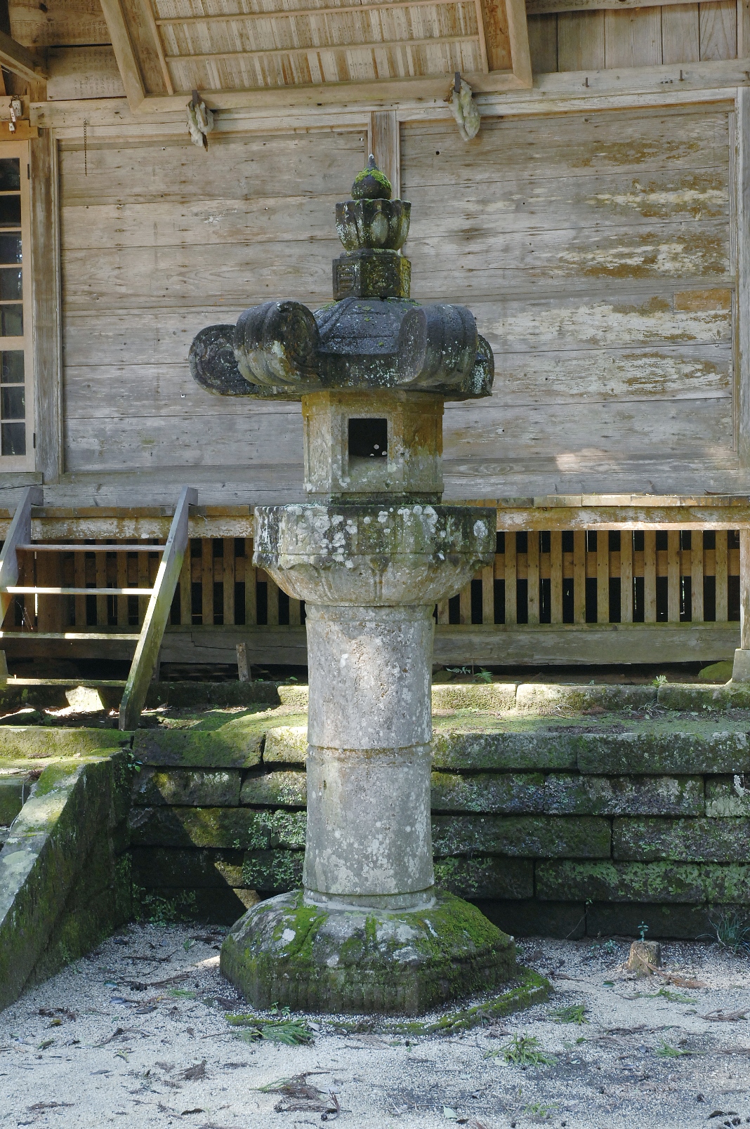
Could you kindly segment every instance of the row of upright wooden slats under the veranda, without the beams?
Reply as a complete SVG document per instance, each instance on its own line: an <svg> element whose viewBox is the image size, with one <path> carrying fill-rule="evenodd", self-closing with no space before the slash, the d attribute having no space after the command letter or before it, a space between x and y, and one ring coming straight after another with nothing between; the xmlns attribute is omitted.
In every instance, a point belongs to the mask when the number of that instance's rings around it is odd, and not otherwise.
<svg viewBox="0 0 750 1129"><path fill-rule="evenodd" d="M94 545L96 544L96 549ZM61 544L25 551L18 587L76 588L64 599L17 594L5 630L140 627L160 554ZM151 549L151 544L155 546ZM299 627L304 604L252 564L252 537L192 537L173 625ZM441 625L732 622L740 618L738 531L499 532L495 562L437 605ZM86 588L98 589L86 595ZM112 596L102 594L112 588ZM134 594L123 594L134 589Z"/></svg>

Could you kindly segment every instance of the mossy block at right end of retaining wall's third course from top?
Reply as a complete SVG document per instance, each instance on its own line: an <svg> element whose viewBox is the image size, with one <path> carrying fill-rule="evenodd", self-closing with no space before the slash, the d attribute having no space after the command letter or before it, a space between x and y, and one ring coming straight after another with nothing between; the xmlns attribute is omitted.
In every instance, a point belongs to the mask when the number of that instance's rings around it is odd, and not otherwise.
<svg viewBox="0 0 750 1129"><path fill-rule="evenodd" d="M639 863L734 863L748 857L750 819L616 819L612 857Z"/></svg>

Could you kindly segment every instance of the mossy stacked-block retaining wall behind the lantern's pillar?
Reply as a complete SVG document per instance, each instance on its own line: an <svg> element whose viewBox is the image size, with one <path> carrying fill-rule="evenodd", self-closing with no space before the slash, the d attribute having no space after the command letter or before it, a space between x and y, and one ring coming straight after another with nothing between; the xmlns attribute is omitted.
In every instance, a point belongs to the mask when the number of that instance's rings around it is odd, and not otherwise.
<svg viewBox="0 0 750 1129"><path fill-rule="evenodd" d="M745 706L713 689L662 689L681 694L682 710ZM598 697L621 708L609 700L614 690L634 708L656 704L651 688L591 690L570 688L583 693L576 709ZM537 709L558 700L552 688L526 697ZM621 723L605 733L438 732L438 882L516 935L634 935L645 921L649 937L695 937L712 914L750 913L750 720L724 729L714 716L699 734L679 720L661 733ZM254 891L302 881L306 749L305 726L236 746L228 728L136 734L142 769L130 816L137 886L152 902L226 921Z"/></svg>

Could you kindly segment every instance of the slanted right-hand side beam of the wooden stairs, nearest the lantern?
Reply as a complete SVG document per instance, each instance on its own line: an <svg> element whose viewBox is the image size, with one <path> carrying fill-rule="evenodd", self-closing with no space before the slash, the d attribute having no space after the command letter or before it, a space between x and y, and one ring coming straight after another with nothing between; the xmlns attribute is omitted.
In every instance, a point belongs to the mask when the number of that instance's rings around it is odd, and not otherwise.
<svg viewBox="0 0 750 1129"><path fill-rule="evenodd" d="M169 622L172 599L180 579L182 562L188 548L188 515L190 504L198 501L198 493L190 487L183 487L177 507L174 511L172 527L164 555L156 574L154 592L148 602L140 639L130 666L125 691L120 703L120 728L133 729L138 725L140 712L146 701L148 688L159 660L159 648L164 629Z"/></svg>

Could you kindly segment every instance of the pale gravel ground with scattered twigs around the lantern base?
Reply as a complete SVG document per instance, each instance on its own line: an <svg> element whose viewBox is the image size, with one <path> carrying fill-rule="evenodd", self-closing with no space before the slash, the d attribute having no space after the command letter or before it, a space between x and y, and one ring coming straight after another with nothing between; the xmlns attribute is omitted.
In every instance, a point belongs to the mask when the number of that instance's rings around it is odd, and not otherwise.
<svg viewBox="0 0 750 1129"><path fill-rule="evenodd" d="M625 970L625 942L532 938L522 959L550 977L547 1004L416 1039L308 1016L314 1041L284 1045L227 1023L247 1008L219 975L220 942L195 926L131 926L0 1013L0 1127L750 1124L747 957L665 945L668 974L644 981ZM575 1007L586 1022L556 1022ZM524 1035L549 1064L506 1061Z"/></svg>

